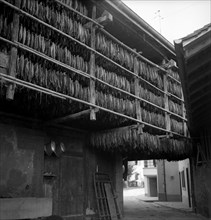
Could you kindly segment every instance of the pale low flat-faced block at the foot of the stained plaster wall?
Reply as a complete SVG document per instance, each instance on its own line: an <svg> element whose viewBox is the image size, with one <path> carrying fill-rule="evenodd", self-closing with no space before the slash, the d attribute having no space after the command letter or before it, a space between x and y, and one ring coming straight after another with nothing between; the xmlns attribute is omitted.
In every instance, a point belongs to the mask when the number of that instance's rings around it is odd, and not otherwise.
<svg viewBox="0 0 211 220"><path fill-rule="evenodd" d="M0 219L33 219L52 215L51 198L0 199Z"/></svg>

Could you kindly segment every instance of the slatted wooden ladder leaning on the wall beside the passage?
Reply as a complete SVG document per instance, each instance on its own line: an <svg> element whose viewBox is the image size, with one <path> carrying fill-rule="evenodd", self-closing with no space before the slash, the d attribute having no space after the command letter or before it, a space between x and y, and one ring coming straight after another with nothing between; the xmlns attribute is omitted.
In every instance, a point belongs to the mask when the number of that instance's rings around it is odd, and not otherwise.
<svg viewBox="0 0 211 220"><path fill-rule="evenodd" d="M118 206L117 196L109 175L105 173L95 173L94 187L99 219L121 220L122 216Z"/></svg>

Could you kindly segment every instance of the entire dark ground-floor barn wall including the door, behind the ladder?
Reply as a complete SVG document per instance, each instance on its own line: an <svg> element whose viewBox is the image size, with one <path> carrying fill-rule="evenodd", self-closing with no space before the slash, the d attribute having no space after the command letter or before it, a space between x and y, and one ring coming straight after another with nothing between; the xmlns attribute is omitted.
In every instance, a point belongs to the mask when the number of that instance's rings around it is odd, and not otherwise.
<svg viewBox="0 0 211 220"><path fill-rule="evenodd" d="M66 152L60 157L46 155L44 145L50 140L63 142ZM97 212L93 174L99 171L110 176L122 209L121 155L95 151L86 140L72 131L1 123L0 197L52 198L53 214L79 220Z"/></svg>

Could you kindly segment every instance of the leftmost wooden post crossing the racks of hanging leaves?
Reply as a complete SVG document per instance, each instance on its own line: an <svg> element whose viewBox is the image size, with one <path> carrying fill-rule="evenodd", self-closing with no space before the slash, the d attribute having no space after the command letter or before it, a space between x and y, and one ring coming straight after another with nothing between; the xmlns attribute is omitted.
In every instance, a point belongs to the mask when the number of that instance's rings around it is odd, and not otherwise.
<svg viewBox="0 0 211 220"><path fill-rule="evenodd" d="M15 6L20 7L20 0L15 1ZM13 31L12 31L12 41L18 41L18 32L19 32L19 14L14 12L13 15ZM9 69L8 75L16 76L16 60L17 60L18 49L16 47L11 48L10 59L9 59ZM13 100L15 94L15 84L10 83L7 88L6 98Z"/></svg>

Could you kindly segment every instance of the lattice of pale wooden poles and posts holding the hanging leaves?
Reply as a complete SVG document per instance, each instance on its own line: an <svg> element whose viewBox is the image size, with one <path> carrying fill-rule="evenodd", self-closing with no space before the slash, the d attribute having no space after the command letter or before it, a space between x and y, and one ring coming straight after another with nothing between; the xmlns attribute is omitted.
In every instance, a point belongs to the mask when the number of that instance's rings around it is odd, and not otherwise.
<svg viewBox="0 0 211 220"><path fill-rule="evenodd" d="M3 38L3 37L0 37L0 40L1 40L1 41L4 41L4 42L10 44L10 45L12 46L12 48L16 48L16 49L17 49L17 48L20 48L21 50L24 50L24 51L27 51L27 52L29 52L29 53L32 53L32 54L34 54L34 55L36 55L36 56L39 56L39 57L41 57L41 58L43 58L43 59L45 59L45 60L48 60L49 62L52 62L52 63L54 63L54 64L56 64L56 65L59 65L59 66L65 68L65 69L67 69L67 70L73 71L73 72L75 72L75 73L77 73L77 74L79 74L79 75L81 75L81 76L83 76L83 77L89 78L89 79L90 79L90 89L91 89L91 97L90 97L90 98L91 98L91 99L90 99L90 100L91 100L91 103L90 103L90 102L83 101L83 100L80 100L80 99L77 99L77 98L74 98L74 97L71 97L71 96L67 96L67 95L64 95L64 94L61 94L61 93L57 93L57 92L55 92L55 91L53 91L53 90L46 89L46 88L43 88L43 87L41 87L41 86L34 85L34 84L32 84L32 83L28 83L28 82L19 80L19 79L15 78L15 74L10 74L10 76L8 76L8 75L5 75L5 74L2 74L2 73L1 73L1 74L0 74L0 77L1 77L1 78L4 78L6 81L10 82L10 83L11 83L10 85L13 85L13 84L15 83L15 84L18 84L18 85L21 85L21 86L24 86L24 87L27 87L27 88L30 88L30 89L34 89L34 90L39 91L39 92L43 92L43 93L45 93L45 94L49 94L49 95L55 96L55 97L57 97L57 98L61 98L61 99L71 99L71 100L77 101L77 102L79 102L79 103L83 103L83 104L85 104L85 105L88 105L89 107L91 107L91 108L93 108L93 109L96 109L96 108L97 108L97 109L100 109L100 110L102 110L102 111L109 112L109 113L112 113L112 114L114 114L114 115L118 115L118 116L127 118L127 119L129 119L129 120L132 120L132 121L138 123L138 124L146 125L146 126L149 126L149 127L151 127L151 128L154 128L154 129L157 129L157 130L166 132L166 133L171 133L171 134L174 134L174 135L179 136L179 137L184 137L184 135L180 135L180 134L177 133L177 132L170 131L170 128L169 128L169 125L168 125L168 124L170 123L170 121L169 121L168 117L170 117L170 115L176 116L177 118L179 118L180 120L183 121L184 128L186 129L185 124L186 124L187 119L185 118L185 115L183 114L183 116L180 116L180 115L178 115L178 114L176 114L176 113L173 113L173 112L169 111L169 109L168 109L168 104L165 104L165 108L162 108L162 107L160 107L160 106L158 106L158 105L156 105L156 104L154 104L154 103L151 103L150 101L147 101L147 100L145 100L145 99L139 97L139 96L137 95L137 94L138 94L138 93L137 93L138 80L141 80L141 81L145 82L146 84L148 84L149 86L151 86L152 88L158 90L159 92L162 92L162 93L164 94L165 103L168 102L168 96L172 96L172 97L174 97L175 99L177 99L178 101L180 101L180 102L182 103L183 112L184 112L184 100L183 100L183 99L180 99L179 97L177 97L177 96L175 96L175 95L173 95L173 94L170 94L170 93L167 91L167 89L164 89L164 91L163 91L162 89L159 89L158 87L156 87L155 85L151 84L151 83L148 82L147 80L145 80L145 79L143 79L142 77L138 76L137 73L134 73L134 72L128 70L127 68L121 66L120 64L114 62L114 61L111 60L110 58L108 58L108 57L106 57L105 55L101 54L100 52L96 51L95 48L94 48L94 43L95 43L95 31L94 31L94 30L96 29L96 26L97 26L98 28L100 28L100 30L101 30L105 35L107 35L108 37L112 38L112 40L114 40L115 42L117 42L118 44L120 44L121 46L123 46L125 49L129 50L130 52L132 52L136 57L138 57L138 58L140 58L141 60L147 62L147 63L150 64L151 66L154 66L154 67L160 69L160 70L162 71L162 73L164 73L164 74L163 74L163 77L165 78L164 82L166 82L166 77L169 77L169 78L171 78L172 80L174 80L176 83L178 83L178 84L181 84L181 83L180 83L178 80L176 80L174 77L170 76L170 75L168 74L168 71L167 71L167 70L163 69L162 67L160 67L160 66L154 64L153 62L149 61L148 59L144 58L143 56L141 56L140 54L138 54L136 51L132 50L132 49L129 48L127 45L125 45L124 43L120 42L118 39L116 39L115 37L113 37L113 36L112 36L111 34L109 34L107 31L105 31L104 29L102 29L103 26L100 25L99 23L97 23L97 22L95 21L95 15L93 15L93 19L91 19L91 18L89 18L89 17L87 17L87 16L81 14L80 12L76 11L75 9L73 9L73 8L71 8L71 7L67 6L67 5L65 5L64 3L62 3L62 2L60 2L60 1L58 1L58 0L55 0L56 3L61 4L61 5L64 6L66 9L69 9L69 10L71 10L72 12L77 13L78 15L84 17L85 19L87 19L88 21L90 21L90 22L93 23L93 25L91 25L91 31L92 31L91 39L92 39L93 42L91 43L91 47L90 47L90 46L88 46L88 45L86 45L86 44L80 42L79 40L77 40L77 39L71 37L70 35L64 33L63 31L61 31L61 30L59 30L59 29L53 27L52 25L49 25L49 24L47 24L46 22L44 22L44 21L42 21L42 20L40 20L40 19L38 19L38 18L36 18L36 17L30 15L29 13L27 13L27 12L23 11L22 9L20 9L19 7L15 6L15 5L12 5L12 4L8 3L8 2L5 1L5 0L0 0L0 2L3 3L3 4L5 4L5 5L7 5L7 6L9 6L10 8L14 9L15 11L17 11L18 13L17 13L17 14L15 13L15 15L19 16L19 13L21 13L21 14L23 14L23 15L29 17L30 19L32 19L32 20L34 20L34 21L36 21L36 22L38 22L38 23L44 25L45 27L47 27L47 28L49 28L49 29L51 29L51 30L53 30L53 31L55 31L55 32L57 32L57 33L59 33L59 34L61 34L62 36L64 36L64 37L66 37L66 38L68 38L68 39L70 39L70 40L72 40L72 41L78 43L79 45L85 47L86 49L88 49L88 50L91 52L91 56L92 56L92 57L95 57L95 55L99 55L100 57L106 59L106 60L109 61L110 63L114 64L114 65L117 66L118 68L124 70L125 72L127 72L128 74L130 74L131 76L133 76L133 77L135 78L135 95L132 94L132 93L130 93L130 92L124 91L123 89L117 88L117 87L115 87L115 86L113 86L113 85L110 85L109 83L104 82L103 80L100 80L100 79L96 78L94 74L87 74L87 73L85 73L85 72L83 72L83 71L77 70L77 69L75 69L75 68L73 68L73 67L71 67L71 66L69 66L69 65L66 65L66 64L64 64L64 63L62 63L62 62L60 62L60 61L57 61L57 60L55 60L55 59L53 59L53 58L50 58L50 57L48 57L47 55L42 54L42 53L40 53L40 52L38 52L38 51L36 51L36 50L34 50L34 49L31 49L31 48L29 48L29 47L27 47L27 46L25 46L25 45L19 43L17 37L16 37L16 38L12 38L12 41L7 40L7 39L5 39L5 38ZM16 17L17 17L17 16L16 16ZM18 20L19 20L19 19L18 19ZM18 24L16 24L16 25L18 26L18 25L19 25L19 22L18 22ZM16 30L16 31L17 31L17 30ZM17 32L18 32L18 31L17 31ZM16 55L16 56L17 56L17 55ZM92 58L92 59L93 59L93 62L92 62L92 66L93 66L93 65L94 65L94 58ZM13 64L13 65L14 65L14 64ZM113 110L110 110L110 109L106 109L106 108L104 108L104 107L97 106L97 105L95 104L95 91L94 91L94 90L95 90L95 89L94 89L94 88L95 88L95 81L98 81L98 82L100 82L101 84L104 84L104 85L106 85L106 86L108 86L108 87L110 87L110 88L112 88L112 89L114 89L114 90L116 90L116 91L119 91L119 92L121 92L121 93L123 93L123 94L126 94L126 95L128 95L128 96L131 96L131 97L135 98L135 100L136 100L136 114L137 114L137 118L135 119L135 118L133 118L133 117L130 117L130 116L127 116L127 115L124 115L124 114L115 112L115 111L113 111ZM160 128L160 127L157 127L157 126L155 126L155 125L152 125L152 124L149 124L149 123L146 123L146 122L143 122L143 121L142 121L141 116L140 116L140 115L141 115L141 114L140 114L141 109L139 109L139 108L137 107L137 106L140 104L140 101L145 102L145 103L147 103L147 104L149 104L149 105L151 105L151 106L153 106L153 107L155 107L155 108L157 108L157 109L160 109L160 110L162 110L163 112L165 112L165 117L166 117L166 120L168 121L168 123L166 123L166 125L167 125L167 128L166 128L166 129L163 129L163 128ZM138 104L138 103L139 103L139 104ZM139 105L139 106L140 106L140 105ZM95 119L95 117L96 117L96 116L95 116L95 112L96 112L96 111L93 110L93 111L91 111L91 112L92 112L92 113L91 113L92 116L90 116L91 119ZM184 132L184 134L186 134L186 131Z"/></svg>

